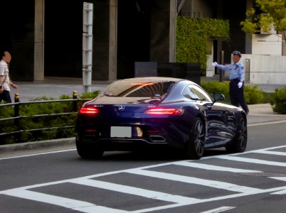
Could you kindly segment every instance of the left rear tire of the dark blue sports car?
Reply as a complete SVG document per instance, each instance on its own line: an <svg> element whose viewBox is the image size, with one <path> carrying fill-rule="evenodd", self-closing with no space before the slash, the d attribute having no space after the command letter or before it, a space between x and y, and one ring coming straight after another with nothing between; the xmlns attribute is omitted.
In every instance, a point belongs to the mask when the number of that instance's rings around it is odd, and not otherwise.
<svg viewBox="0 0 286 213"><path fill-rule="evenodd" d="M76 148L78 155L85 159L98 159L101 158L104 153L102 148L94 144L80 143L78 140L76 141Z"/></svg>

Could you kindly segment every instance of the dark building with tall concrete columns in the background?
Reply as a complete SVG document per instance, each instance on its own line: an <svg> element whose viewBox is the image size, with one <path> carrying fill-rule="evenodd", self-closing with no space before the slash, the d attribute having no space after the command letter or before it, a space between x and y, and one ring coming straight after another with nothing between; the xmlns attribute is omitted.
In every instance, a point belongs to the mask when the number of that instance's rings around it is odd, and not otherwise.
<svg viewBox="0 0 286 213"><path fill-rule="evenodd" d="M83 2L1 3L0 48L11 52L12 80L37 82L45 77L83 77ZM210 40L208 64L213 60L231 62L233 50L275 55L283 45L281 40L273 43L276 37L265 34L261 35L265 38L261 45L260 35L249 38L241 31L239 23L254 0L240 1L235 9L228 0L87 2L94 4L92 80L133 77L134 62L176 62L178 15L229 20L231 40ZM207 75L216 74L209 66Z"/></svg>

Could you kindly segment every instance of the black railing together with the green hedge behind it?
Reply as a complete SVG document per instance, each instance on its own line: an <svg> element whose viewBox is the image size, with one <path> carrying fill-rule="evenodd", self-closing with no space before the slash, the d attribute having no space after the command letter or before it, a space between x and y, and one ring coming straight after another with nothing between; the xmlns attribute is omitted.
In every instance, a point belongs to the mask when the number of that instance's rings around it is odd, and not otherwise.
<svg viewBox="0 0 286 213"><path fill-rule="evenodd" d="M76 111L100 91L60 99L38 97L31 102L0 104L0 145L75 136Z"/></svg>

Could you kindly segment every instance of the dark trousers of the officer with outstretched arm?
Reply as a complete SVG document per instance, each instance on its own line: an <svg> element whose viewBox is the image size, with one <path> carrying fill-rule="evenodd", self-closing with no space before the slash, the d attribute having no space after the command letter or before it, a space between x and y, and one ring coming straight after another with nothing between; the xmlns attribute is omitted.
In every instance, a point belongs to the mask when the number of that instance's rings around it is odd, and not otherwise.
<svg viewBox="0 0 286 213"><path fill-rule="evenodd" d="M244 82L241 88L238 88L239 79L231 80L229 83L229 97L231 99L231 104L235 107L239 107L239 105L243 108L243 110L248 114L248 105L244 99Z"/></svg>

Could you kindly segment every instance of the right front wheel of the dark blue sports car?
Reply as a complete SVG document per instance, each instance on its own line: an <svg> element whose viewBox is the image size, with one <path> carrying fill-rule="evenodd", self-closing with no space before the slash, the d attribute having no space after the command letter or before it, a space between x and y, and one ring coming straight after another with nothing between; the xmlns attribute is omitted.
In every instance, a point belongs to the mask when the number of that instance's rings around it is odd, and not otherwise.
<svg viewBox="0 0 286 213"><path fill-rule="evenodd" d="M248 143L248 127L244 116L239 119L238 128L231 143L226 145L228 153L243 153Z"/></svg>

